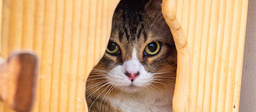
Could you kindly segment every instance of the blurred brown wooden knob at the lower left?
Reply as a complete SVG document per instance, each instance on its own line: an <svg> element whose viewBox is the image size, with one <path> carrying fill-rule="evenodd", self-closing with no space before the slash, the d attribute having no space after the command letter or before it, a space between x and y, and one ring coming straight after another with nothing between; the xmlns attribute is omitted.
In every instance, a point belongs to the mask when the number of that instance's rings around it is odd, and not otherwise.
<svg viewBox="0 0 256 112"><path fill-rule="evenodd" d="M14 111L32 109L38 59L32 52L14 52L6 60L0 59L0 99Z"/></svg>

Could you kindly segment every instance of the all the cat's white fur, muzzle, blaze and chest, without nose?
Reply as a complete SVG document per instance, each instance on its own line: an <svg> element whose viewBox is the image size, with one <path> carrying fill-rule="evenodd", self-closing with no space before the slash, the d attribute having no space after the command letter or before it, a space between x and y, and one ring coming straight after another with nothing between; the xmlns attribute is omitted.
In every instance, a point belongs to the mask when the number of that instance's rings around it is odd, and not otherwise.
<svg viewBox="0 0 256 112"><path fill-rule="evenodd" d="M124 74L137 73L140 75L132 82ZM113 107L121 108L123 112L172 112L172 90L157 92L151 89L153 74L148 73L139 62L136 50L133 50L132 59L125 61L123 65L110 70L107 80L121 91L117 97L108 97Z"/></svg>

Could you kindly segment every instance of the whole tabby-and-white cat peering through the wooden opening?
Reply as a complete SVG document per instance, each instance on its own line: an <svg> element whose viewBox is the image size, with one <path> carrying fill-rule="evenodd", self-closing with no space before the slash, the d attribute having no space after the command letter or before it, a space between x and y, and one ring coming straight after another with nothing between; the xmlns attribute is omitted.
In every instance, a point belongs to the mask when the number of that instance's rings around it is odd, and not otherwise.
<svg viewBox="0 0 256 112"><path fill-rule="evenodd" d="M121 0L86 82L89 112L172 112L177 51L162 0Z"/></svg>

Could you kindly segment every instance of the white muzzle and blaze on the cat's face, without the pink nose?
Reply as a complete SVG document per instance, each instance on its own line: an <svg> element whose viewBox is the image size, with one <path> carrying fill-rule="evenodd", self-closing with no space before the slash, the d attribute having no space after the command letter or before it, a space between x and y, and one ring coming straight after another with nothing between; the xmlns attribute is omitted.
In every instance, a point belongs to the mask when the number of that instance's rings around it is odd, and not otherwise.
<svg viewBox="0 0 256 112"><path fill-rule="evenodd" d="M137 71L139 71L140 75L131 82L131 80L124 74L125 71L128 71L129 73L137 73ZM153 74L148 73L139 62L135 49L133 50L131 60L125 61L123 65L113 68L110 72L111 73L107 73L107 80L109 82L119 89L131 92L137 91L141 87L148 86L148 83L152 81L153 77Z"/></svg>

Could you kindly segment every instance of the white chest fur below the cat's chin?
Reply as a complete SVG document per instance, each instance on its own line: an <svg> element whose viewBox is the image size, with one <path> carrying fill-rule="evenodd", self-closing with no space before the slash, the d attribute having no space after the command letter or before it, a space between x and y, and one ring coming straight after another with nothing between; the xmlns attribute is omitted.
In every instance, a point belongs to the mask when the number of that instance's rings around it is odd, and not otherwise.
<svg viewBox="0 0 256 112"><path fill-rule="evenodd" d="M164 94L165 93L165 94ZM123 112L172 112L172 91L120 93L109 97L110 105L120 108Z"/></svg>

